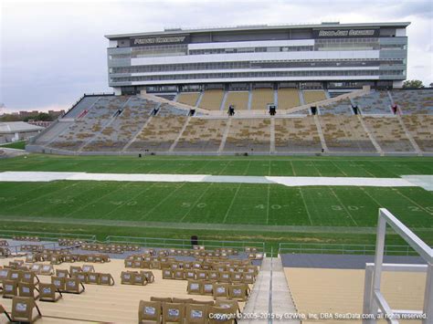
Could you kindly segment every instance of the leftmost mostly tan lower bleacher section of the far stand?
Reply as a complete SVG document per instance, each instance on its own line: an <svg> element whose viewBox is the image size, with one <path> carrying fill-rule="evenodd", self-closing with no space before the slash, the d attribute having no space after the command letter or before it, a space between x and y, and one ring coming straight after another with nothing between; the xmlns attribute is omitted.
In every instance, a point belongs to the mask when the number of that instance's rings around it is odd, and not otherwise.
<svg viewBox="0 0 433 324"><path fill-rule="evenodd" d="M140 132L128 151L168 151L185 124L186 117L155 116Z"/></svg>

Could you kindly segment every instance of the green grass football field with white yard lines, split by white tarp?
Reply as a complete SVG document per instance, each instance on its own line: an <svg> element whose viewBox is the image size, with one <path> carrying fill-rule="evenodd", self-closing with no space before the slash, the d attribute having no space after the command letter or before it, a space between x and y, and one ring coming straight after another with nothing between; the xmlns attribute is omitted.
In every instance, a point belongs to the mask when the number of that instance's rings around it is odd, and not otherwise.
<svg viewBox="0 0 433 324"><path fill-rule="evenodd" d="M398 177L433 174L432 158L65 157L0 160L3 171ZM1 228L103 235L375 241L388 208L433 244L433 194L418 187L248 183L0 183ZM20 222L17 224L16 220ZM391 237L391 240L393 238Z"/></svg>

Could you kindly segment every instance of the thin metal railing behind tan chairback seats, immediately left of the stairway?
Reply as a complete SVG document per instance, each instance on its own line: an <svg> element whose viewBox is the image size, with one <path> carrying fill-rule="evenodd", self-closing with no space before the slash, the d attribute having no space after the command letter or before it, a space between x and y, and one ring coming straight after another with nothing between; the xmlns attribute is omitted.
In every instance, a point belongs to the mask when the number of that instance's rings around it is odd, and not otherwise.
<svg viewBox="0 0 433 324"><path fill-rule="evenodd" d="M191 239L156 238L156 237L132 237L132 236L107 236L105 243L135 244L144 247L155 248L191 248ZM197 239L198 246L206 249L235 248L245 250L245 247L256 247L259 252L265 252L265 243L250 241L217 241Z"/></svg>

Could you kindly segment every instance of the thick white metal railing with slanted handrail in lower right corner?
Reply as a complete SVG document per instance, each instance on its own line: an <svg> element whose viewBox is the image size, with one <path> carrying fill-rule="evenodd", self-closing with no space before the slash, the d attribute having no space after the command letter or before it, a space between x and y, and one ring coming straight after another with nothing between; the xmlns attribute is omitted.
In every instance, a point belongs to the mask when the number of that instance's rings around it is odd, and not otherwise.
<svg viewBox="0 0 433 324"><path fill-rule="evenodd" d="M426 261L427 265L384 264L386 225L389 225L397 235L400 235L408 245L417 251L417 254ZM392 309L381 291L380 283L383 271L427 272L423 310ZM402 297L404 296L402 295ZM433 249L385 208L379 209L375 263L366 264L365 267L363 313L371 316L371 319L363 320L364 324L376 323L379 315L392 324L398 324L398 319L405 319L407 316L422 319L423 324L433 323Z"/></svg>

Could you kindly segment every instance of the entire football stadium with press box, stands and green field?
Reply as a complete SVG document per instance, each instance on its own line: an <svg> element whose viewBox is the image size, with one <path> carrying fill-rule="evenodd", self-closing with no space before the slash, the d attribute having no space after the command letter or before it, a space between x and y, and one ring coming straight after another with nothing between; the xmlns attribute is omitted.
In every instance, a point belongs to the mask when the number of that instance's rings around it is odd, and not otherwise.
<svg viewBox="0 0 433 324"><path fill-rule="evenodd" d="M409 25L105 36L112 93L0 147L0 321L433 323Z"/></svg>

